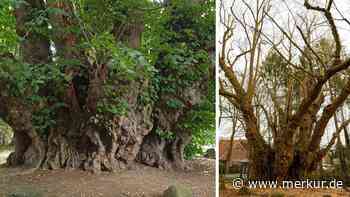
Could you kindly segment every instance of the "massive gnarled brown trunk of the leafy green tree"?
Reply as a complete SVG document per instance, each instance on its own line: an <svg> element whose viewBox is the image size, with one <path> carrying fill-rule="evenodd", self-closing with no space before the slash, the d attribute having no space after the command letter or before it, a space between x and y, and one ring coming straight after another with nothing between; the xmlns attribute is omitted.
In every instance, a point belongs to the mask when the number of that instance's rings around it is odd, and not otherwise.
<svg viewBox="0 0 350 197"><path fill-rule="evenodd" d="M32 12L47 8L59 8L67 14L51 13L49 24L52 40L36 31L28 31L26 23ZM63 106L55 113L55 126L42 135L33 126L33 114L53 105L44 100L38 105L30 105L23 98L0 93L1 114L14 130L15 151L8 158L8 165L24 165L28 168L82 168L92 172L115 171L132 167L135 162L161 168L183 168L184 147L191 140L191 131L179 127L179 122L200 103L207 94L208 76L202 76L197 83L177 95L188 105L169 111L164 108L173 95L159 95L155 103L140 104L139 98L148 90L150 79L139 76L133 80L111 79L108 60L87 57L77 46L88 39L80 33L65 31L70 27L81 27L75 16L74 7L67 1L48 2L27 0L15 11L17 34L24 37L20 43L21 57L26 64L47 64L55 60L55 54L64 60L79 60L80 67L65 66L68 80L62 94L57 95L47 87L40 90L42 96L59 99ZM112 35L119 42L137 49L141 44L144 30L142 13L136 13L140 20L130 24L115 24ZM119 27L123 25L123 27ZM118 31L123 29L123 31ZM96 59L93 59L96 58ZM138 70L143 65L136 65ZM86 69L85 69L86 68ZM0 81L2 83L2 81ZM126 101L124 114L101 115L98 105L101 100L110 99L105 85L108 83L119 94L120 101ZM1 84L5 85L5 84ZM28 96L30 92L28 92ZM172 139L163 139L156 130L174 132Z"/></svg>

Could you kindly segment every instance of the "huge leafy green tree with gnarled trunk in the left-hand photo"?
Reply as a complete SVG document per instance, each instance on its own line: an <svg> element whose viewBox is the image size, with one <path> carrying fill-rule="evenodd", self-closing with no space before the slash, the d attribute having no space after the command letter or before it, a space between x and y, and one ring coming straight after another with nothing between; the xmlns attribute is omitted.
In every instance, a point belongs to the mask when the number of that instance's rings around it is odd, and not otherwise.
<svg viewBox="0 0 350 197"><path fill-rule="evenodd" d="M192 133L213 132L212 1L11 2L1 4L17 37L0 38L19 48L0 59L10 166L183 168Z"/></svg>

